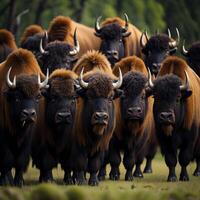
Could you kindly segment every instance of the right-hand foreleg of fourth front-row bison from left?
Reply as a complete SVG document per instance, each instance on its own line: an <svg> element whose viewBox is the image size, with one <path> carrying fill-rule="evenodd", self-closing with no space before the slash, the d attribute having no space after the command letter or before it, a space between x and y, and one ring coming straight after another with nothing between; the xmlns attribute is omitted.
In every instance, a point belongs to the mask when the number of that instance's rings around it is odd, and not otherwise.
<svg viewBox="0 0 200 200"><path fill-rule="evenodd" d="M134 163L135 163L134 151L126 150L124 152L124 159L123 159L123 164L126 169L126 174L125 174L126 181L133 180L132 171L133 171Z"/></svg>

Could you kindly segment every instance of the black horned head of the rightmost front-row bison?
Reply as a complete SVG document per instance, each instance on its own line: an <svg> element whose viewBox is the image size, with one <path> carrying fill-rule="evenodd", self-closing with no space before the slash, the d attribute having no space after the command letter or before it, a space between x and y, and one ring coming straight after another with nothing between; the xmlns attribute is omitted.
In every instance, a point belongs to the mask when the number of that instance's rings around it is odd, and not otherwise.
<svg viewBox="0 0 200 200"><path fill-rule="evenodd" d="M171 135L174 127L183 122L184 101L192 94L187 72L185 75L184 85L180 78L173 74L159 77L154 83L149 81L154 96L153 112L156 126L160 127L166 135Z"/></svg>

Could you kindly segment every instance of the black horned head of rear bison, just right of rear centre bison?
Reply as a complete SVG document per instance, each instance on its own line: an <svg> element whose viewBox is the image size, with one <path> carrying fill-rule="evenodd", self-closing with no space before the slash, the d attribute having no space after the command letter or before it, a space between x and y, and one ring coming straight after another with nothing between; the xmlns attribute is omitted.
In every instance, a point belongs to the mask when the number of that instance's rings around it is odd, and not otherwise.
<svg viewBox="0 0 200 200"><path fill-rule="evenodd" d="M153 75L157 75L163 60L176 52L180 41L179 31L176 28L177 40L171 38L171 32L168 29L168 35L156 34L148 38L147 32L143 32L140 38L142 52L145 55L145 64ZM143 40L146 40L146 44Z"/></svg>

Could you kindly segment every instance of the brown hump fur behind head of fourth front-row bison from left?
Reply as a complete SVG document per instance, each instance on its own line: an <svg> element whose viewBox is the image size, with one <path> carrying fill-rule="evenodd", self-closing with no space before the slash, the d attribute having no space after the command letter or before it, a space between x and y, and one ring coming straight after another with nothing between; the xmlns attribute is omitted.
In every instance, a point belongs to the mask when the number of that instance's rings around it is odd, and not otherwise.
<svg viewBox="0 0 200 200"><path fill-rule="evenodd" d="M129 57L121 59L118 63L116 63L113 68L113 74L115 76L119 75L118 68L121 69L122 75L124 75L125 73L129 71L134 71L134 70L137 72L141 72L145 76L148 75L147 68L143 60L137 56L129 56Z"/></svg>

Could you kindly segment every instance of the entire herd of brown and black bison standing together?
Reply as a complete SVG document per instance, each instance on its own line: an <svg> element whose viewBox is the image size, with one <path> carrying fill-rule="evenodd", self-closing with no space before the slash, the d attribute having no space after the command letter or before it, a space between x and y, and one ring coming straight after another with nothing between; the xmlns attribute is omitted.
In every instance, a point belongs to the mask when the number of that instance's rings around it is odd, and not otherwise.
<svg viewBox="0 0 200 200"><path fill-rule="evenodd" d="M173 56L180 43L114 17L94 29L57 16L44 30L28 26L19 48L0 29L0 185L24 184L29 159L39 182L52 182L58 164L64 184L98 185L152 173L157 147L168 181L200 176L200 43ZM144 171L141 164L146 158ZM15 175L11 172L15 169ZM133 172L133 168L135 168Z"/></svg>

